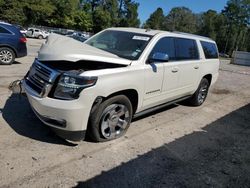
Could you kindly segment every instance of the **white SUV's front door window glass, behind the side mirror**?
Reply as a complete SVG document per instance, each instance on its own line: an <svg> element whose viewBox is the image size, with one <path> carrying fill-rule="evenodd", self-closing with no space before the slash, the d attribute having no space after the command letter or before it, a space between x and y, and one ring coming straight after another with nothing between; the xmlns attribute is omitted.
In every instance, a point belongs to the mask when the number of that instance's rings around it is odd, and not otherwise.
<svg viewBox="0 0 250 188"><path fill-rule="evenodd" d="M150 56L154 53L166 53L168 54L169 60L175 59L174 39L171 37L165 37L160 39L154 46Z"/></svg>

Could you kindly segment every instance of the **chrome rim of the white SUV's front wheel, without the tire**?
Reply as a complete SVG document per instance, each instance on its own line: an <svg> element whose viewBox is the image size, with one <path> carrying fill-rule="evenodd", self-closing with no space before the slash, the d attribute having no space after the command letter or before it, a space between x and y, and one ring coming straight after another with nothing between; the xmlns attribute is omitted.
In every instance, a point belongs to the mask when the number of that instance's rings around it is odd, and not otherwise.
<svg viewBox="0 0 250 188"><path fill-rule="evenodd" d="M130 121L129 110L125 105L108 106L101 118L101 133L106 139L119 137L127 129Z"/></svg>

